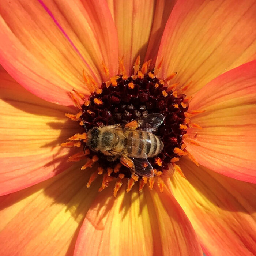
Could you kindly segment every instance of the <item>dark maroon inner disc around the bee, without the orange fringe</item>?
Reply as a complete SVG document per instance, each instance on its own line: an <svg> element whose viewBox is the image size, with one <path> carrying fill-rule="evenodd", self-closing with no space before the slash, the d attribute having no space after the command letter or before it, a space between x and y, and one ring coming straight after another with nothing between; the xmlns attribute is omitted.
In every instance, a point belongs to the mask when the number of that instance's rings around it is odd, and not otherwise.
<svg viewBox="0 0 256 256"><path fill-rule="evenodd" d="M133 88L128 86L131 82L134 84ZM159 136L164 144L162 152L157 156L161 159L162 166L155 163L155 158L148 158L148 161L157 171L167 170L171 159L178 157L173 150L176 147L181 149L182 136L186 133L186 130L180 129L180 125L185 121L184 113L188 109L181 105L185 95L174 97L172 91L167 91L167 87L162 85L158 78L151 78L148 73L143 78L136 79L131 76L123 80L120 76L116 86L106 86L106 83L102 83L101 89L100 94L94 92L90 95L88 106L82 106L82 118L87 129L95 126L128 123L150 113L162 114L165 116L165 120L155 132L155 135ZM166 91L167 93L165 93ZM95 98L101 100L102 104L95 103ZM99 157L99 165L103 168L114 168L120 163L118 160L108 161L106 156L99 152L92 152L91 156L95 154ZM123 165L119 172L111 175L118 177L120 173L125 174L127 178L131 177L130 170Z"/></svg>

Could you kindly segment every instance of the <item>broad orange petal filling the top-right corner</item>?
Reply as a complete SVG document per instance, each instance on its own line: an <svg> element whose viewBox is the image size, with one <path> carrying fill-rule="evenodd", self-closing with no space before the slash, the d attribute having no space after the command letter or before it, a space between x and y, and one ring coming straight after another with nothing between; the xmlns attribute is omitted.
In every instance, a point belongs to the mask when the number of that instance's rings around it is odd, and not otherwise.
<svg viewBox="0 0 256 256"><path fill-rule="evenodd" d="M229 69L256 57L254 0L178 0L163 33L159 77L177 72L173 82L194 94Z"/></svg>

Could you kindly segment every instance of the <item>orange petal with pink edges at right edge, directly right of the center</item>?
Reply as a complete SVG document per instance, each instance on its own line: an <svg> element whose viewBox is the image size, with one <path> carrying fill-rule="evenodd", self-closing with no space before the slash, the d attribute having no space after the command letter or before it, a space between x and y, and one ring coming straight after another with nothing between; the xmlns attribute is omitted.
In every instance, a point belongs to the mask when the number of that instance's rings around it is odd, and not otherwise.
<svg viewBox="0 0 256 256"><path fill-rule="evenodd" d="M201 165L231 178L256 182L256 61L232 69L203 87L189 111L202 129L189 129L187 150Z"/></svg>

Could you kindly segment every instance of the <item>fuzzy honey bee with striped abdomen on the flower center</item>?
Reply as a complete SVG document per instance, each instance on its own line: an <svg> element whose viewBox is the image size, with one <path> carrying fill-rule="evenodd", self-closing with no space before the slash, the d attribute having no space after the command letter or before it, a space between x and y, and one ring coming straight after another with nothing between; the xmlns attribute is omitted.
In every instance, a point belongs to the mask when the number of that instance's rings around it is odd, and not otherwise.
<svg viewBox="0 0 256 256"><path fill-rule="evenodd" d="M86 145L106 155L109 161L120 159L139 176L153 177L153 167L147 158L163 150L162 140L153 134L163 120L163 115L153 113L124 125L93 127L87 132Z"/></svg>

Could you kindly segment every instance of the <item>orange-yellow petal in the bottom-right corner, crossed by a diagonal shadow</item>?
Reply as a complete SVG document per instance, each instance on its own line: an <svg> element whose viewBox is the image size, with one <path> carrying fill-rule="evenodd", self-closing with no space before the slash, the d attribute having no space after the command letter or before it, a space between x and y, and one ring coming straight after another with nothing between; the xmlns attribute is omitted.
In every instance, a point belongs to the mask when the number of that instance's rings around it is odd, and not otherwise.
<svg viewBox="0 0 256 256"><path fill-rule="evenodd" d="M179 162L171 188L207 255L255 255L256 185Z"/></svg>

